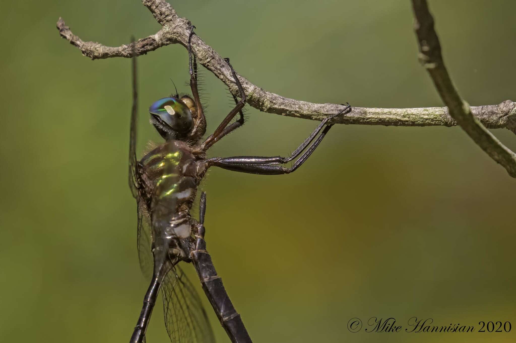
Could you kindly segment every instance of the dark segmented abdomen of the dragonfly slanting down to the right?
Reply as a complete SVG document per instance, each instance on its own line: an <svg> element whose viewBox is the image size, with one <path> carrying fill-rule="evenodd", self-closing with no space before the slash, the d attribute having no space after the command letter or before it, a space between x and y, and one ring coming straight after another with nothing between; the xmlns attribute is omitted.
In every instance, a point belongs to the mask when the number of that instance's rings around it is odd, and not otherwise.
<svg viewBox="0 0 516 343"><path fill-rule="evenodd" d="M195 250L190 252L191 260L201 280L202 289L206 294L213 310L222 324L225 332L233 343L252 343L247 333L244 322L236 312L227 291L222 284L222 279L217 275L212 257L206 250L204 241L204 214L206 212L206 193L201 193L199 211L199 224L197 226L197 242Z"/></svg>

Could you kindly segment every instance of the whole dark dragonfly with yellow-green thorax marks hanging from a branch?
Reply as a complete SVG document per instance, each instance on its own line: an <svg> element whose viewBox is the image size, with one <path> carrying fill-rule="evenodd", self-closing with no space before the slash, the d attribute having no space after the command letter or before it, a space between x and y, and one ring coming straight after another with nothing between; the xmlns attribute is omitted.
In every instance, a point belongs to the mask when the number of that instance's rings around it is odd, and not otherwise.
<svg viewBox="0 0 516 343"><path fill-rule="evenodd" d="M228 58L233 81L240 99L233 96L235 107L215 132L205 140L206 118L198 91L197 60L191 50L192 26L188 39L190 89L192 96L175 91L155 101L149 108L150 122L164 143L136 156L137 68L133 40L132 88L129 149L129 186L137 202L137 245L140 266L150 277L143 306L130 343L146 341L146 332L159 291L162 292L165 326L173 343L214 342L214 333L201 299L187 279L180 263L195 267L201 286L223 329L233 343L251 343L247 329L235 310L222 279L217 275L206 250L204 217L206 193L200 197L199 219L190 215L197 187L210 167L261 175L289 174L313 153L332 127L329 121L348 110L349 104L323 119L312 134L288 157L235 156L206 158L206 151L225 135L244 124L246 94ZM343 105L344 106L344 105ZM236 120L233 120L235 117ZM296 159L297 158L297 159ZM291 167L283 164L293 161Z"/></svg>

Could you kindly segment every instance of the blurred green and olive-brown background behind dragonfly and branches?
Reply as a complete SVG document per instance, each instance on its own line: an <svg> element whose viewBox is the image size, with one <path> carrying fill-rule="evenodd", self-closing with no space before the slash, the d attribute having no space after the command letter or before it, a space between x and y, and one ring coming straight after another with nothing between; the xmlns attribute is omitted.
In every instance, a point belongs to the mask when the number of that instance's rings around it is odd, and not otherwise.
<svg viewBox="0 0 516 343"><path fill-rule="evenodd" d="M417 62L408 0L172 5L268 91L361 107L442 106ZM62 16L83 40L111 46L159 25L137 0L0 6L1 340L127 341L148 285L127 188L130 60L82 57L55 22ZM430 9L461 95L471 105L514 100L516 3L431 1ZM171 93L169 78L189 92L187 53L167 46L138 63L143 149L159 141L147 108ZM231 106L225 86L204 74L209 132ZM286 155L317 125L248 114L209 156ZM513 133L493 132L516 149ZM213 169L201 188L208 249L255 342L515 340L516 181L458 128L336 125L292 175ZM208 310L218 342L229 341ZM151 343L168 340L161 312L158 305ZM413 316L513 328L346 329L352 317L373 316L404 328Z"/></svg>

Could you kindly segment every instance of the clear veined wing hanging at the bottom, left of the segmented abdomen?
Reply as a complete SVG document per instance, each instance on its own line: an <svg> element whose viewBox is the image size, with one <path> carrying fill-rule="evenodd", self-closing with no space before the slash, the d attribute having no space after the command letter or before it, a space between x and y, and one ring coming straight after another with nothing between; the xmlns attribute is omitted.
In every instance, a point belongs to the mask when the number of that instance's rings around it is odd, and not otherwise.
<svg viewBox="0 0 516 343"><path fill-rule="evenodd" d="M172 343L214 343L208 317L192 283L178 266L162 284L165 326Z"/></svg>

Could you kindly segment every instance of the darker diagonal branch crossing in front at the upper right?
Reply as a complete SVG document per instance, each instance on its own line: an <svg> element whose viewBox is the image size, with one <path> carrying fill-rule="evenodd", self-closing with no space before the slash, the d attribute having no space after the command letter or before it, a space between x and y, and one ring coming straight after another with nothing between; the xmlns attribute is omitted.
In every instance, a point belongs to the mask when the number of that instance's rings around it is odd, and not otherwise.
<svg viewBox="0 0 516 343"><path fill-rule="evenodd" d="M426 0L412 0L414 11L414 28L420 47L420 61L436 85L449 114L460 127L493 160L507 169L510 176L516 178L516 154L498 141L496 137L473 116L470 105L457 92L451 82L441 55L441 44L433 27L433 18L428 10ZM509 125L513 128L513 122Z"/></svg>

